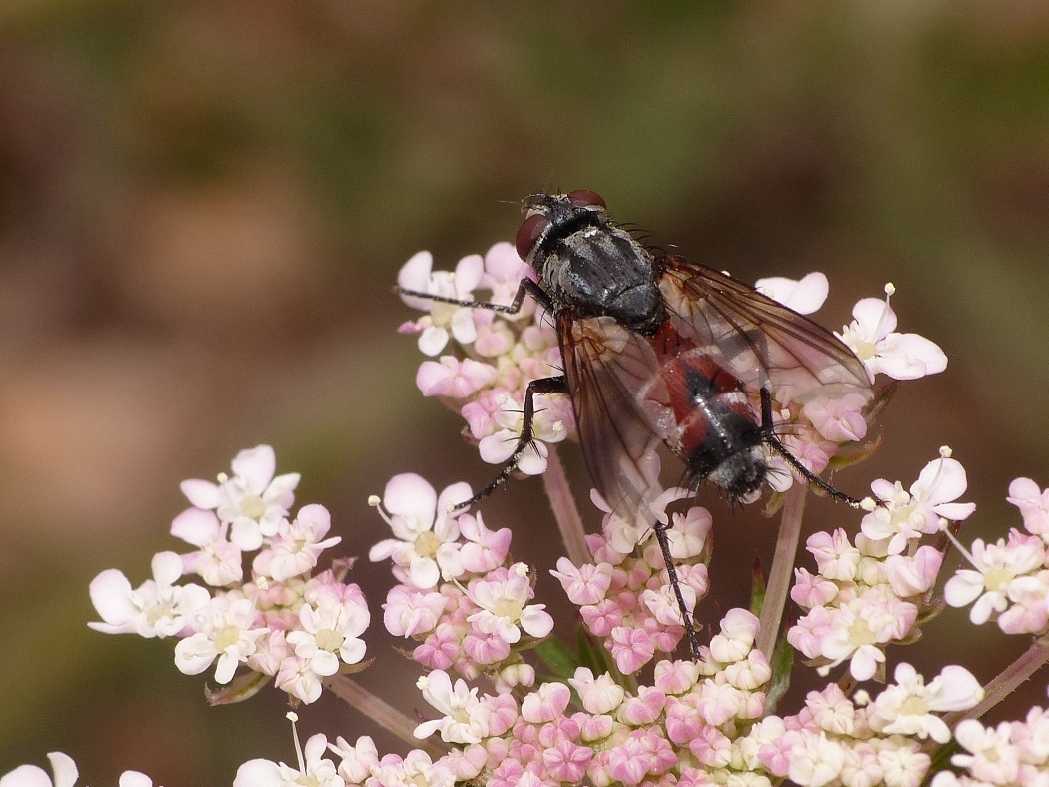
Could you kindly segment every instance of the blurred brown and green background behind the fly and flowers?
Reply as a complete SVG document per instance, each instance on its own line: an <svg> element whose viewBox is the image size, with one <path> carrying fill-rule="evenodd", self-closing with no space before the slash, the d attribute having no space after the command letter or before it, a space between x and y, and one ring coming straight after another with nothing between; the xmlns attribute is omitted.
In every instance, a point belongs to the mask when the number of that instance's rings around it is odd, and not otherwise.
<svg viewBox="0 0 1049 787"><path fill-rule="evenodd" d="M831 327L894 281L901 329L950 365L901 386L882 450L838 482L909 484L949 443L969 537L1019 524L1009 480L1049 484L1049 6L644 5L0 4L0 772L60 749L90 784L136 768L176 787L292 761L283 695L207 708L170 643L85 628L88 582L146 578L178 548L178 482L260 442L333 509L343 554L384 534L365 501L391 474L487 481L458 417L414 388L390 284L420 249L451 269L512 239L500 200L544 187L593 188L745 280L823 271ZM774 522L711 507L724 609ZM486 514L540 569L561 553L537 480ZM856 517L811 503L807 529L837 524ZM361 680L423 710L382 631L388 570L356 576L383 659ZM987 680L1026 646L964 621L890 658L949 651ZM301 716L403 751L333 699Z"/></svg>

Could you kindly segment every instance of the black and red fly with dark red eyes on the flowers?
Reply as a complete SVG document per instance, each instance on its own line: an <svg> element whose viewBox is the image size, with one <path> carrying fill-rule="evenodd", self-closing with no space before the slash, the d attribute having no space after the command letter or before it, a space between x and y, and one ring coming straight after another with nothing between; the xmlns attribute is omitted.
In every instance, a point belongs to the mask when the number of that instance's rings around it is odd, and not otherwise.
<svg viewBox="0 0 1049 787"><path fill-rule="evenodd" d="M537 275L509 304L404 295L516 314L531 296L553 318L561 375L533 380L523 427L502 471L463 507L512 474L532 442L536 395L571 398L591 478L612 510L644 517L659 540L693 658L699 639L670 557L668 525L647 508L642 459L660 445L685 466L685 486L708 481L733 501L767 478L768 451L810 484L858 506L810 472L784 445L772 401L873 397L862 362L833 334L730 276L639 242L593 191L532 194L521 203L517 252ZM761 411L751 404L756 395Z"/></svg>

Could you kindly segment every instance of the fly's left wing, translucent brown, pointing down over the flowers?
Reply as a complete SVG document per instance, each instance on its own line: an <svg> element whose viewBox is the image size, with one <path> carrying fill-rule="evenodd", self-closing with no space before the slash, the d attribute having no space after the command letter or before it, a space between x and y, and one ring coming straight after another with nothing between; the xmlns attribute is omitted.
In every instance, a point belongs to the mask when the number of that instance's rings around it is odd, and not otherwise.
<svg viewBox="0 0 1049 787"><path fill-rule="evenodd" d="M591 478L612 510L634 522L662 491L655 453L670 423L656 353L611 317L562 315L558 336Z"/></svg>

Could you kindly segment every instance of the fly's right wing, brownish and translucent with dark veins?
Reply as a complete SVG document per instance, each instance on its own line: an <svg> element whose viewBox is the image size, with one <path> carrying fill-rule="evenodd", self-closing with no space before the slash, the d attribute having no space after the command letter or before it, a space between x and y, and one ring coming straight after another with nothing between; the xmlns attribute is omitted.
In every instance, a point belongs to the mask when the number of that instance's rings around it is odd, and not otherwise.
<svg viewBox="0 0 1049 787"><path fill-rule="evenodd" d="M681 257L660 261L673 329L745 387L768 387L784 404L871 398L863 363L831 332L718 271Z"/></svg>

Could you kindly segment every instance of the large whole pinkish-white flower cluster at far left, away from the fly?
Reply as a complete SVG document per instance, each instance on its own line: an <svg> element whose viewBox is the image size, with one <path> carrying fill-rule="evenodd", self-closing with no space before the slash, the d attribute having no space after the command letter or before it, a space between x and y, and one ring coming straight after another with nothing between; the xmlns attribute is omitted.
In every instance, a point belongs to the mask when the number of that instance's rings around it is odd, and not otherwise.
<svg viewBox="0 0 1049 787"><path fill-rule="evenodd" d="M90 588L102 621L88 625L177 638L180 672L199 675L214 664L215 681L230 684L214 702L242 699L266 677L314 702L322 678L364 658L367 602L357 584L343 581L347 561L314 573L321 553L341 539L326 537L331 517L323 506L303 506L292 517L299 475L275 475L273 448L240 451L232 470L217 483L183 482L192 507L174 518L171 534L195 549L154 555L152 578L137 588L115 569L103 571ZM249 552L255 554L244 581ZM178 583L192 574L204 584ZM240 667L247 672L231 684Z"/></svg>

